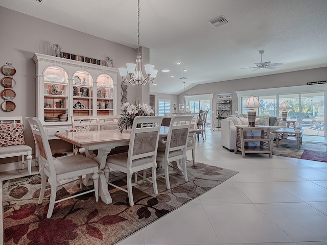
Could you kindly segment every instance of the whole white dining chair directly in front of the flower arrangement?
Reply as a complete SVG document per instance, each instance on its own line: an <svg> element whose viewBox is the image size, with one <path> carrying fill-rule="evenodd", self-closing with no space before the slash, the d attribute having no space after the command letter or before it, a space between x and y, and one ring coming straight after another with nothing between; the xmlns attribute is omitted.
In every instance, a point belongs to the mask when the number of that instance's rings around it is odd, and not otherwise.
<svg viewBox="0 0 327 245"><path fill-rule="evenodd" d="M104 169L106 181L109 185L128 193L129 205L134 205L132 191L133 173L151 168L152 180L144 180L153 184L154 194L158 194L156 180L156 156L158 149L159 133L162 119L161 116L136 116L133 121L128 152L115 154L107 157ZM109 169L119 170L127 175L127 190L109 181Z"/></svg>

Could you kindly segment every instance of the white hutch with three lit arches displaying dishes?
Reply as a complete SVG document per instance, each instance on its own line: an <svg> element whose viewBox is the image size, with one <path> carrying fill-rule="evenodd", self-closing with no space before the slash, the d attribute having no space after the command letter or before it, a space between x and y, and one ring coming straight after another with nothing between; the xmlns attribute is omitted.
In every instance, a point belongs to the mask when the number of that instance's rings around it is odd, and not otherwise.
<svg viewBox="0 0 327 245"><path fill-rule="evenodd" d="M71 115L117 115L118 69L35 53L36 116L48 139L72 128Z"/></svg>

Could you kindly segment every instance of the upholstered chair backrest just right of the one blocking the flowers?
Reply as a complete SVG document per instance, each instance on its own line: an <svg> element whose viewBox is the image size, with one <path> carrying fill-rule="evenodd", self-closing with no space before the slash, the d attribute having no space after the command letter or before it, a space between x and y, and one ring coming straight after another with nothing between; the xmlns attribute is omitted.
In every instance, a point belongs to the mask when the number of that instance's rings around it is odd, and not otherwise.
<svg viewBox="0 0 327 245"><path fill-rule="evenodd" d="M166 141L166 158L172 151L182 150L186 153L192 118L192 115L172 117Z"/></svg>

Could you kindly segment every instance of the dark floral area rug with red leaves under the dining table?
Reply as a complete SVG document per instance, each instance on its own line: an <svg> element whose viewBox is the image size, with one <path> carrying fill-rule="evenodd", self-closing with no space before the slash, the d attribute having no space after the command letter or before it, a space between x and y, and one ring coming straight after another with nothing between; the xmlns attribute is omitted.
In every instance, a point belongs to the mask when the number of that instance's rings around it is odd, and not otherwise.
<svg viewBox="0 0 327 245"><path fill-rule="evenodd" d="M94 193L60 202L53 215L46 218L50 191L41 205L37 204L40 176L17 178L3 183L3 217L5 244L114 244L158 218L221 184L237 171L196 163L188 164L189 181L171 172L171 189L165 179L157 177L158 195L152 184L134 184L134 206L129 206L127 193L110 188L113 203L95 201ZM157 174L162 173L157 168ZM113 171L109 175L118 186L126 187L126 176ZM78 183L64 185L57 191L57 199L81 191Z"/></svg>

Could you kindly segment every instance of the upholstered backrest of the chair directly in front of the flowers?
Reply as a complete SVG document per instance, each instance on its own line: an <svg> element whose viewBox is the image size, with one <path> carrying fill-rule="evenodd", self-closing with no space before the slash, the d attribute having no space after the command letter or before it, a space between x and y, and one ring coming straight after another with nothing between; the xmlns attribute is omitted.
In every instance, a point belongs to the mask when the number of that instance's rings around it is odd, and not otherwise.
<svg viewBox="0 0 327 245"><path fill-rule="evenodd" d="M134 118L127 168L131 168L132 161L139 158L152 157L152 162L155 162L163 118L162 116L136 116Z"/></svg>

